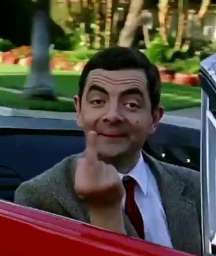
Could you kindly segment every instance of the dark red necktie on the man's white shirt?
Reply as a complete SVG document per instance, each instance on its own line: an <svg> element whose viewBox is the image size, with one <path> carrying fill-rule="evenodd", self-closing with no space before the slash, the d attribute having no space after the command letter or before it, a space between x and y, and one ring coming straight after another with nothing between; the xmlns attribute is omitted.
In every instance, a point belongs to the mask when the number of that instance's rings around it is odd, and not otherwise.
<svg viewBox="0 0 216 256"><path fill-rule="evenodd" d="M139 237L145 239L143 218L134 198L134 186L136 181L130 176L125 176L123 178L123 184L126 190L125 213L128 215Z"/></svg>

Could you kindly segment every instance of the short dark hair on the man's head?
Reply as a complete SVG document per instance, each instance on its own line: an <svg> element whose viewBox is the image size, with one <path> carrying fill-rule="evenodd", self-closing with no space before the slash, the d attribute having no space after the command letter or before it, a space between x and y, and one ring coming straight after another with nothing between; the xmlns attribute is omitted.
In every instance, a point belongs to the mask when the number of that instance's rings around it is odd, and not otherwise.
<svg viewBox="0 0 216 256"><path fill-rule="evenodd" d="M144 53L128 47L111 47L96 53L85 65L79 79L79 97L83 96L88 74L94 69L120 70L143 69L147 77L147 88L151 109L155 110L160 103L161 80L158 68L152 64Z"/></svg>

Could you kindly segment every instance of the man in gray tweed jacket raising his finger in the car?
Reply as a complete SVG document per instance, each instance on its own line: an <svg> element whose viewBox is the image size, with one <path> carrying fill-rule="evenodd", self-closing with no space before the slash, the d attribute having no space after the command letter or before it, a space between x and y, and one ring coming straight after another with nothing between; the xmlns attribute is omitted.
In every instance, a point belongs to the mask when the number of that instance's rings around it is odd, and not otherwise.
<svg viewBox="0 0 216 256"><path fill-rule="evenodd" d="M199 174L142 151L163 116L160 90L140 51L97 53L74 98L85 152L21 184L15 202L201 254Z"/></svg>

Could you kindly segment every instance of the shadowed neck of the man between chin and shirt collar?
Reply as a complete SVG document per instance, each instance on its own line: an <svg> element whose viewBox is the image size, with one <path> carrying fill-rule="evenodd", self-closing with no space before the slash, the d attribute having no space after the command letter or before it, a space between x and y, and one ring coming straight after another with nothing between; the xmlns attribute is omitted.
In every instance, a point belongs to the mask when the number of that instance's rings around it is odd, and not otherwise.
<svg viewBox="0 0 216 256"><path fill-rule="evenodd" d="M120 155L116 157L103 157L99 156L99 160L106 164L113 165L119 173L127 174L138 163L140 158L140 151L134 154Z"/></svg>

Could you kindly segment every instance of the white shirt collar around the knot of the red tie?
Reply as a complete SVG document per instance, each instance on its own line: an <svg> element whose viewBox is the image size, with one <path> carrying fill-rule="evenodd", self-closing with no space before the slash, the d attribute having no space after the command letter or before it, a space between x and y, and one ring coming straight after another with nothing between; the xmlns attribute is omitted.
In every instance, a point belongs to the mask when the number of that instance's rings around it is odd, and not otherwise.
<svg viewBox="0 0 216 256"><path fill-rule="evenodd" d="M140 152L140 158L137 164L133 167L133 169L128 174L121 174L119 173L119 176L121 179L123 179L124 176L130 176L133 179L136 180L137 184L143 191L144 195L147 194L147 163L144 161L142 153Z"/></svg>

